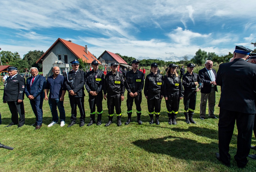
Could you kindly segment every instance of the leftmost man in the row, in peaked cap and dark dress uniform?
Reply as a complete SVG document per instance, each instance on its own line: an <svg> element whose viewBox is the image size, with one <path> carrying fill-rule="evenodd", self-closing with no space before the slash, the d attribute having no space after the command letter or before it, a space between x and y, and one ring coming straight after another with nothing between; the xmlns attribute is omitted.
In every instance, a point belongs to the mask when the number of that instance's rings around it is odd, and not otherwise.
<svg viewBox="0 0 256 172"><path fill-rule="evenodd" d="M7 103L9 106L12 114L12 122L5 127L18 124L18 128L20 128L25 123L25 110L23 104L25 78L17 74L17 67L10 66L7 71L9 77L4 82L3 103Z"/></svg>

